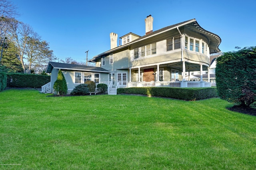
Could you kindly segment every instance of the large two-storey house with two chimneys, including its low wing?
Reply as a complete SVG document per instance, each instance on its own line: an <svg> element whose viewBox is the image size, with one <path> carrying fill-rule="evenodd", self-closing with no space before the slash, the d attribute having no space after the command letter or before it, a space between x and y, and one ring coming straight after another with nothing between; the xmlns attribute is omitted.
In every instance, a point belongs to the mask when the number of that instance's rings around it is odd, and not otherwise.
<svg viewBox="0 0 256 170"><path fill-rule="evenodd" d="M196 19L156 31L153 31L153 20L151 15L146 17L145 35L127 33L120 37L119 46L118 34L110 33L110 50L88 61L96 63L96 67L50 62L46 72L52 73L51 86L57 70L61 69L69 90L83 83L88 72L91 80L107 84L109 92L114 94L116 88L124 87L210 87L210 75L204 81L203 71L211 66L210 54L220 52L220 37L203 29ZM186 80L186 72L198 70L199 81Z"/></svg>

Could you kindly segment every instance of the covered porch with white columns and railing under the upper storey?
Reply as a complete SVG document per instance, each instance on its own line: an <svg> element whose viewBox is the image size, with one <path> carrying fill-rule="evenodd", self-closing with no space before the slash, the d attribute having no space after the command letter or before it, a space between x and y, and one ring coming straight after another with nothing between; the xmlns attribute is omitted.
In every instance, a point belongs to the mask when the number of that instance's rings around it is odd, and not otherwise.
<svg viewBox="0 0 256 170"><path fill-rule="evenodd" d="M209 69L209 64L187 59L130 67L126 87L211 87ZM190 72L198 70L200 81L190 81ZM208 81L203 80L203 70L208 70Z"/></svg>

